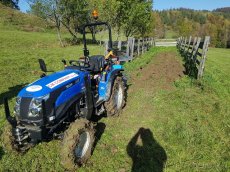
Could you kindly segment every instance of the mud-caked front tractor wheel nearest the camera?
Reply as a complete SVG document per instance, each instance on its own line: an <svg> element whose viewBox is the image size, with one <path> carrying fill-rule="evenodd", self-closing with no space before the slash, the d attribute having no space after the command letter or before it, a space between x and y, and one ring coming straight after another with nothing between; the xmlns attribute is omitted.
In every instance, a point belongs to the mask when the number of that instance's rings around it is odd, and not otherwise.
<svg viewBox="0 0 230 172"><path fill-rule="evenodd" d="M73 171L90 158L94 143L92 124L86 119L77 119L64 134L61 148L61 163Z"/></svg>

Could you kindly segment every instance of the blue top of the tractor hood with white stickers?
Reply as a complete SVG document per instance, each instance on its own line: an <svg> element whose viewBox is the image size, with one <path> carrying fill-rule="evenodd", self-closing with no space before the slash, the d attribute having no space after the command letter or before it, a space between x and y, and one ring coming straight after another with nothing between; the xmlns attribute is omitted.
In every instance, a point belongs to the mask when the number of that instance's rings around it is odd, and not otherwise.
<svg viewBox="0 0 230 172"><path fill-rule="evenodd" d="M82 72L79 70L66 69L59 71L29 84L19 92L18 96L33 98L43 97L77 80L81 75Z"/></svg>

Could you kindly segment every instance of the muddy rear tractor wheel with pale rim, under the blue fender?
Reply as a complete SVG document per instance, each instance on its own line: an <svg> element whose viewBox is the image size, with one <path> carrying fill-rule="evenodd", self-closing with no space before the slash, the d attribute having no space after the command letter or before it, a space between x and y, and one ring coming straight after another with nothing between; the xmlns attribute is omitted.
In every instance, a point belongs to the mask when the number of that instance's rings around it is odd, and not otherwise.
<svg viewBox="0 0 230 172"><path fill-rule="evenodd" d="M118 76L114 80L112 92L109 100L105 102L107 116L119 115L125 106L126 87L122 77Z"/></svg>

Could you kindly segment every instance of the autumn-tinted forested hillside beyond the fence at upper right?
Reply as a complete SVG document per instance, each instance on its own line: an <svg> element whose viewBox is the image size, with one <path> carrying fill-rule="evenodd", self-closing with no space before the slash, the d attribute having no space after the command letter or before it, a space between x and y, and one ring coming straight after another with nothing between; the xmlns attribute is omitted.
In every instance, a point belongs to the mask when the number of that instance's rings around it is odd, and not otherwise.
<svg viewBox="0 0 230 172"><path fill-rule="evenodd" d="M164 38L168 30L178 36L211 36L211 45L229 47L230 45L230 7L213 11L196 11L180 8L153 12L155 35Z"/></svg>

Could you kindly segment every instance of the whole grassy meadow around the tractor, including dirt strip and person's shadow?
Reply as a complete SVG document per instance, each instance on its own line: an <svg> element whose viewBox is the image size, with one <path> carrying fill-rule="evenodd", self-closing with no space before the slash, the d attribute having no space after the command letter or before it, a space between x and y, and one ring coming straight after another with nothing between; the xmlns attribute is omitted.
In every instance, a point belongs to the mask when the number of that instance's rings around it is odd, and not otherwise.
<svg viewBox="0 0 230 172"><path fill-rule="evenodd" d="M38 58L48 69L61 70L61 59L78 58L82 47L60 48L55 33L0 28L2 131L2 99L9 97L13 109L17 92L39 78ZM99 140L79 171L230 171L230 50L210 48L201 82L176 77L174 65L183 69L176 48L152 48L125 64L127 106L119 117L99 121ZM59 149L54 140L20 155L0 143L0 171L64 171Z"/></svg>

